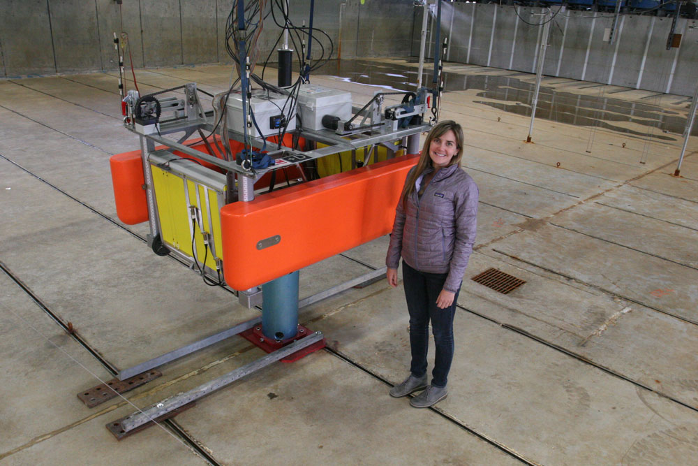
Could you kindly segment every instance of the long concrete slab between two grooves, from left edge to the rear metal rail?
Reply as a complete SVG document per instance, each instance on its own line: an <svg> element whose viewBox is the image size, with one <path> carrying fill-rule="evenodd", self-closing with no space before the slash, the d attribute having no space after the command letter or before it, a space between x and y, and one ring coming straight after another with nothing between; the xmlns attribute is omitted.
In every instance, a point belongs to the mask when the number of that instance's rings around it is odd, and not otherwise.
<svg viewBox="0 0 698 466"><path fill-rule="evenodd" d="M204 337L256 314L26 173L2 173L15 186L24 184L17 193L43 200L26 205L26 197L17 199L23 207L0 230L3 263L118 367L176 349L177 340L195 341L192 333ZM44 219L40 229L30 227L36 219ZM22 247L28 238L31 249ZM146 275L136 272L144 270ZM161 326L163 319L170 325Z"/></svg>

